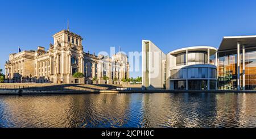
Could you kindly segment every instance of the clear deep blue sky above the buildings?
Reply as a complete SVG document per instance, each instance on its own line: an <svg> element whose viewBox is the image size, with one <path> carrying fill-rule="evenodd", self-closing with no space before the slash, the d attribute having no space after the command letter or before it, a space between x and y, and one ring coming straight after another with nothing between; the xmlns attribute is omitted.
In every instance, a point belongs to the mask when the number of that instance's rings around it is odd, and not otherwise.
<svg viewBox="0 0 256 139"><path fill-rule="evenodd" d="M84 37L84 51L141 52L152 40L163 52L195 45L218 47L223 36L256 35L256 1L1 1L0 69L10 53L48 49L67 28ZM141 76L140 72L131 77Z"/></svg>

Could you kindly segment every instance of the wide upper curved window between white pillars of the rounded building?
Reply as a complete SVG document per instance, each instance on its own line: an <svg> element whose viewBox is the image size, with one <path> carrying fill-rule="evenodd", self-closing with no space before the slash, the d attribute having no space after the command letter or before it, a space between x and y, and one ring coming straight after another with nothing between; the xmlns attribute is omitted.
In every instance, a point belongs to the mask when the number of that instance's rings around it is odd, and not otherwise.
<svg viewBox="0 0 256 139"><path fill-rule="evenodd" d="M188 65L206 64L206 63L207 63L206 52L189 52L188 53Z"/></svg>

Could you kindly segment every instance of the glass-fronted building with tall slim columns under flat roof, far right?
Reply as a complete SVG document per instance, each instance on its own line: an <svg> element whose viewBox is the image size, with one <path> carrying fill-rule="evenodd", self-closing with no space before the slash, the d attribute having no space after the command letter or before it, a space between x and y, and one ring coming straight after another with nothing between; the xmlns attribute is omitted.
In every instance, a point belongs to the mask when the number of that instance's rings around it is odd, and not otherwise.
<svg viewBox="0 0 256 139"><path fill-rule="evenodd" d="M226 36L218 57L218 89L256 90L256 35Z"/></svg>

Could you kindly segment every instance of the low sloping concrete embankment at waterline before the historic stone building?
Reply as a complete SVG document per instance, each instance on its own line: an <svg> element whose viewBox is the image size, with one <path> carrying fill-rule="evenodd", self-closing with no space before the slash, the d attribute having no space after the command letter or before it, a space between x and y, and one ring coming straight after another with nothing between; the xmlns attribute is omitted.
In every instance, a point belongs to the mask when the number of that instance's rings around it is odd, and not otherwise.
<svg viewBox="0 0 256 139"><path fill-rule="evenodd" d="M127 90L127 91L125 91ZM133 90L133 91L131 91ZM138 92L141 85L0 83L0 95Z"/></svg>

